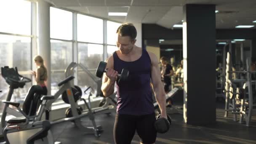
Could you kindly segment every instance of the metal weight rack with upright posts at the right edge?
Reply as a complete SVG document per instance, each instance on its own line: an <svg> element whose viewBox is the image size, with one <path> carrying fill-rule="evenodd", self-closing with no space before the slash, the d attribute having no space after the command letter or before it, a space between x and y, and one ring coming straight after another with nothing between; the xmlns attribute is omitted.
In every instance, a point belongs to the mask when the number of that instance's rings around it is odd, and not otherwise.
<svg viewBox="0 0 256 144"><path fill-rule="evenodd" d="M252 80L251 73L255 71L251 71L251 61L249 59L246 60L247 71L231 71L230 64L230 54L227 53L227 65L226 65L226 84L225 84L225 94L226 94L226 103L225 103L225 115L224 117L228 117L228 112L232 111L234 115L234 120L237 121L237 114L240 115L239 123L243 123L243 119L245 119L246 126L250 126L252 109L253 109L253 96L252 96ZM241 92L239 89L236 92L233 91L235 85L232 85L231 75L229 73L246 73L247 80L240 80L241 82L245 82L242 88L244 91L244 96L241 98ZM246 92L246 90L248 92ZM247 94L248 93L248 98ZM234 96L236 95L236 96ZM231 103L232 101L232 103ZM240 102L240 105L237 104Z"/></svg>

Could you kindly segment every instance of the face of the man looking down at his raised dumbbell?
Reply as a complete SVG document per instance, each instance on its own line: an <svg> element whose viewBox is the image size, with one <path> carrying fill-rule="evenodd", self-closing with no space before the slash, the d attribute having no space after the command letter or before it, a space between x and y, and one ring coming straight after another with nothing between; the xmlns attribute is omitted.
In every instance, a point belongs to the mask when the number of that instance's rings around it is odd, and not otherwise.
<svg viewBox="0 0 256 144"><path fill-rule="evenodd" d="M117 48L122 54L128 54L133 49L136 40L131 40L129 36L117 34Z"/></svg>

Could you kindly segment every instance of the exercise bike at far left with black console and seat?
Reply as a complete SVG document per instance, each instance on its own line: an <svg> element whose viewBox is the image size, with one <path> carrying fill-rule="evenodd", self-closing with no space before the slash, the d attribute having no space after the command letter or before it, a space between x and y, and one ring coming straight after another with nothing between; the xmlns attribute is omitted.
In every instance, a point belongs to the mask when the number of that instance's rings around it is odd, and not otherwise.
<svg viewBox="0 0 256 144"><path fill-rule="evenodd" d="M35 121L35 118L38 117L38 115L32 115L31 113L33 109L32 102L24 104L24 110L21 110L19 108L19 103L10 101L13 90L16 88L23 88L25 83L31 82L31 79L19 75L17 68L14 70L7 66L1 67L1 74L3 78L5 78L5 81L10 85L7 99L6 101L2 101L5 106L1 117L1 125L6 144L34 144L36 140L44 139L45 137L48 139L47 144L60 144L54 143L50 131L51 123L48 120ZM31 91L26 96L25 101L28 101L30 97L33 97L36 92L42 91L42 88L38 85L30 88L30 90ZM43 96L41 98L42 105L45 105L50 99L53 99L53 97ZM9 105L16 107L18 111L10 108ZM16 117L5 121L7 113Z"/></svg>

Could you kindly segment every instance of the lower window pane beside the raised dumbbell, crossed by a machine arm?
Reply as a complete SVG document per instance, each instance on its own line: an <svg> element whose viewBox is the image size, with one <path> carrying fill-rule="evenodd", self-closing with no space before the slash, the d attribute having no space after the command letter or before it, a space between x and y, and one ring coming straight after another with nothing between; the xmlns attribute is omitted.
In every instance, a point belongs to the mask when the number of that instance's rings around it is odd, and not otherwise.
<svg viewBox="0 0 256 144"><path fill-rule="evenodd" d="M78 62L87 67L93 75L100 61L103 61L103 45L78 43ZM77 80L80 87L91 86L95 91L97 90L97 84L81 69L78 71Z"/></svg>

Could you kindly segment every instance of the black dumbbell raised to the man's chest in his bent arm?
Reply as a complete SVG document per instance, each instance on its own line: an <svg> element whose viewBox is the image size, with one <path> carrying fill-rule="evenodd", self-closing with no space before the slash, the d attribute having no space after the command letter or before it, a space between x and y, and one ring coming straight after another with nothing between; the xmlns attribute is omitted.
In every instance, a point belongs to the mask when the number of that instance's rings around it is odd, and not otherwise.
<svg viewBox="0 0 256 144"><path fill-rule="evenodd" d="M107 63L104 62L104 61L101 61L99 63L99 66L96 70L96 76L97 77L101 78L103 73L107 72L106 66L107 66ZM117 77L119 77L118 83L120 83L120 81L127 80L128 76L129 76L129 71L127 69L122 69L121 74L117 74Z"/></svg>

